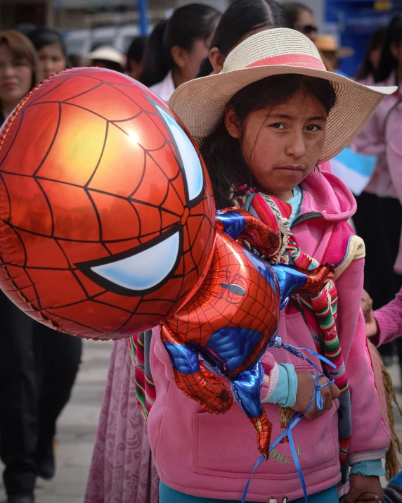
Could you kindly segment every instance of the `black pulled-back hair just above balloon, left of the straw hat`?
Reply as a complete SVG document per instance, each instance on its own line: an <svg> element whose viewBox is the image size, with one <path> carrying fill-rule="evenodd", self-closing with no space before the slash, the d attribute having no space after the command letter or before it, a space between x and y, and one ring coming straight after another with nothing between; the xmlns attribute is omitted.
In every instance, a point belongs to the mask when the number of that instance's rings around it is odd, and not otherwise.
<svg viewBox="0 0 402 503"><path fill-rule="evenodd" d="M156 25L150 34L138 80L148 87L161 82L174 68L171 48L179 46L190 51L196 40L210 37L220 17L216 8L203 4L176 8L171 18Z"/></svg>

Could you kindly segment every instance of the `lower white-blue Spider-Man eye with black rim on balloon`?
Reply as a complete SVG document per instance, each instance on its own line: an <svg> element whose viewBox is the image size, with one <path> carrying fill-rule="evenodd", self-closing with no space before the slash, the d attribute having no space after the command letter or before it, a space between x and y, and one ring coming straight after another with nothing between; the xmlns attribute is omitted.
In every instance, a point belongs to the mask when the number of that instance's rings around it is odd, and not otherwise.
<svg viewBox="0 0 402 503"><path fill-rule="evenodd" d="M120 295L145 295L174 274L183 252L183 231L175 225L142 246L76 264L96 284Z"/></svg>

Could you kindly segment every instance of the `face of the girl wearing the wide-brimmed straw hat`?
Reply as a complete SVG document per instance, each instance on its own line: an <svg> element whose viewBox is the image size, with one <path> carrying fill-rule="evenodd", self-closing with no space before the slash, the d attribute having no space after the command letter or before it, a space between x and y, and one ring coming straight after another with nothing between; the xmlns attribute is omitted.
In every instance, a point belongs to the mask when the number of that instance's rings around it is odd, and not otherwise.
<svg viewBox="0 0 402 503"><path fill-rule="evenodd" d="M239 139L257 189L282 200L290 199L316 166L326 122L324 106L301 89L280 105L250 113L242 125L231 106L225 115L226 129Z"/></svg>

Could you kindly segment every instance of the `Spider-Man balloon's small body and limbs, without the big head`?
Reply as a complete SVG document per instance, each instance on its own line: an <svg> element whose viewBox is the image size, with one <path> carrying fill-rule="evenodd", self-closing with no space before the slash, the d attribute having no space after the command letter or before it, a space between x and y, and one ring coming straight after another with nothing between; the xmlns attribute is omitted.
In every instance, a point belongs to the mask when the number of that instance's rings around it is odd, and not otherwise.
<svg viewBox="0 0 402 503"><path fill-rule="evenodd" d="M278 331L286 298L320 291L332 269L271 265L241 243L261 256L272 255L278 245L272 229L240 208L219 211L216 219L215 250L205 281L164 321L162 343L183 393L214 414L230 409L234 397L266 459L272 425L261 405L261 357ZM220 376L228 379L230 390Z"/></svg>

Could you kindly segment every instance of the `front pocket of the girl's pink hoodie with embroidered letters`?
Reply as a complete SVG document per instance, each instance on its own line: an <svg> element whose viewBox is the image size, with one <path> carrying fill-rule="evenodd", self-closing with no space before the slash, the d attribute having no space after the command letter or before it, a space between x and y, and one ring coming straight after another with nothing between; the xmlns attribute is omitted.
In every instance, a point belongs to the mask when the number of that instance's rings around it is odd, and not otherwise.
<svg viewBox="0 0 402 503"><path fill-rule="evenodd" d="M293 440L304 473L316 471L338 462L337 402L330 411L315 419L302 419L294 427ZM283 418L275 404L264 404L272 423L272 440L282 430ZM207 412L195 414L193 423L193 467L197 473L228 477L248 477L259 458L257 436L252 424L238 404L223 416ZM290 444L285 440L271 450L268 460L261 463L253 477L297 477Z"/></svg>

